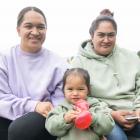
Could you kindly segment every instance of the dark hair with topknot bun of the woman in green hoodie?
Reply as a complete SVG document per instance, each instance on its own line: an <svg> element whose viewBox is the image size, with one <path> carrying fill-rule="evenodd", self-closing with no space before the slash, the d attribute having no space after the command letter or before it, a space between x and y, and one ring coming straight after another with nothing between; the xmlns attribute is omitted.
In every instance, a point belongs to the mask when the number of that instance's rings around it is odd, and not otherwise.
<svg viewBox="0 0 140 140"><path fill-rule="evenodd" d="M103 9L100 12L100 15L92 22L91 27L89 29L89 33L91 35L91 37L94 36L94 32L97 30L99 24L102 21L109 21L112 23L116 33L117 33L117 23L113 18L114 13L112 13L109 9Z"/></svg>

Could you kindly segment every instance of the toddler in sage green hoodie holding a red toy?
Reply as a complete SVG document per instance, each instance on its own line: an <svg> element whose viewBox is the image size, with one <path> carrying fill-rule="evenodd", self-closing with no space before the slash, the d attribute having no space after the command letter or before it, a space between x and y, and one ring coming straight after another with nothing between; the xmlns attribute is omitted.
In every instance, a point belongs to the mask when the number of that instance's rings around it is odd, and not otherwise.
<svg viewBox="0 0 140 140"><path fill-rule="evenodd" d="M45 127L57 140L101 140L114 121L105 103L90 97L90 77L86 70L72 68L63 77L65 100L54 108Z"/></svg>

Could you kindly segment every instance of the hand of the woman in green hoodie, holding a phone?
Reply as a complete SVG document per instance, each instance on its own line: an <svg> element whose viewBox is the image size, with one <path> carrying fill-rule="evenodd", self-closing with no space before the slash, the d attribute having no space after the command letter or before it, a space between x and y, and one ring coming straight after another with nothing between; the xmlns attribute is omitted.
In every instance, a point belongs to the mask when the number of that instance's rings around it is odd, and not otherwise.
<svg viewBox="0 0 140 140"><path fill-rule="evenodd" d="M133 111L112 111L111 113L114 120L124 127L124 130L131 130L137 123L137 120L126 120L125 116L127 115L135 115Z"/></svg>

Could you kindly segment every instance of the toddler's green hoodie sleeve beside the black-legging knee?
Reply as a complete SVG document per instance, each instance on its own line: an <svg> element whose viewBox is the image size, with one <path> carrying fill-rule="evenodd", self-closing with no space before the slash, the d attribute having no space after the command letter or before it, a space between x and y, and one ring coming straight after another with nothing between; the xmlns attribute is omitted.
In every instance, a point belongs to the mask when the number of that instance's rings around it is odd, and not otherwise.
<svg viewBox="0 0 140 140"><path fill-rule="evenodd" d="M45 128L53 136L64 136L73 124L67 124L64 120L64 112L60 106L54 108L49 114L45 122Z"/></svg>

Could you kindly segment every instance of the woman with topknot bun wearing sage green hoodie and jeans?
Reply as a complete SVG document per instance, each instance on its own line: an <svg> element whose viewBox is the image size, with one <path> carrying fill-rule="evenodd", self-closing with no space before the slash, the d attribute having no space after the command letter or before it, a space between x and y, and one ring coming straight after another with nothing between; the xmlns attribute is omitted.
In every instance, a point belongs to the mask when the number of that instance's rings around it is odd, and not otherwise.
<svg viewBox="0 0 140 140"><path fill-rule="evenodd" d="M88 70L91 96L110 108L116 125L108 140L139 138L140 60L136 53L116 45L117 24L108 9L92 22L89 32L91 39L81 44L72 66ZM136 119L128 120L128 115Z"/></svg>

